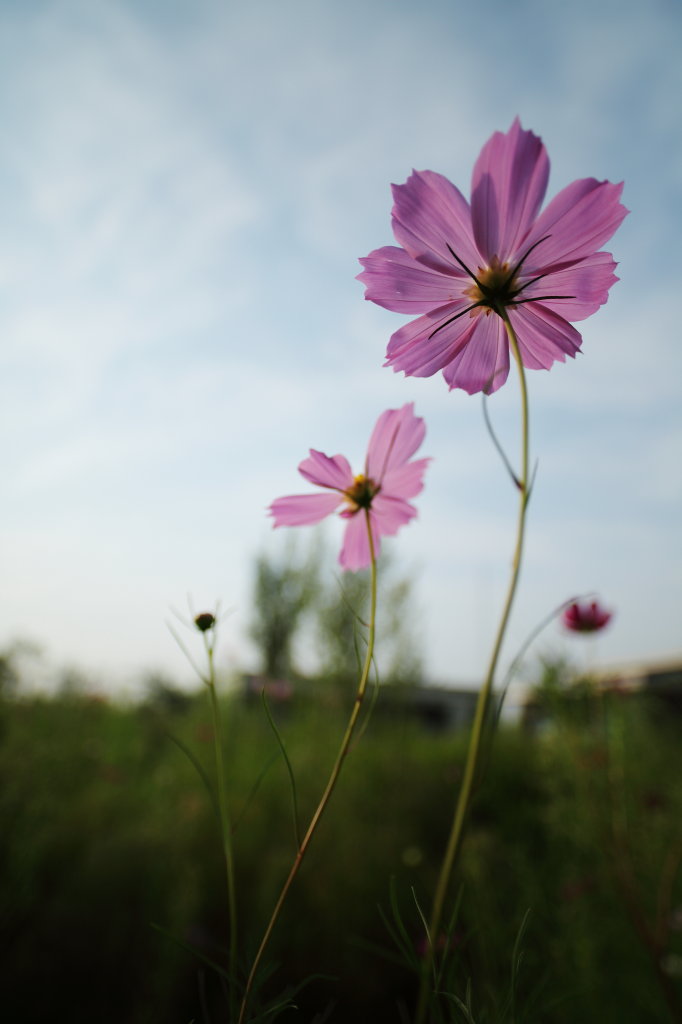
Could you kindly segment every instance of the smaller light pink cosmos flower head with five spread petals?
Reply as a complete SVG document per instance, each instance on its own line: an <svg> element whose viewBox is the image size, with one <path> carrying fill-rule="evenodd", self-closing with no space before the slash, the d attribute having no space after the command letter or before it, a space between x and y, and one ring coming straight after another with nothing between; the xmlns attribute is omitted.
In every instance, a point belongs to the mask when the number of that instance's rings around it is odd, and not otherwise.
<svg viewBox="0 0 682 1024"><path fill-rule="evenodd" d="M303 526L319 522L343 503L339 515L347 520L339 562L344 569L366 568L372 558L365 511L369 514L375 555L380 538L391 537L417 515L408 498L422 489L430 459L410 462L424 440L424 421L410 402L387 409L377 420L365 460L365 470L353 476L347 459L310 449L298 467L301 476L329 494L291 495L278 498L268 511L275 526Z"/></svg>

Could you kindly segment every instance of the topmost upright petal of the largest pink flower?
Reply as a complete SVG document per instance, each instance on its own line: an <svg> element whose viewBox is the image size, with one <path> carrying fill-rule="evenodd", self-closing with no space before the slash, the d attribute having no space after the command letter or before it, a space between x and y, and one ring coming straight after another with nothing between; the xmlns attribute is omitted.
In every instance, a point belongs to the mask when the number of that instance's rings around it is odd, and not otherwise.
<svg viewBox="0 0 682 1024"><path fill-rule="evenodd" d="M480 152L471 179L476 244L491 262L507 259L538 215L549 179L542 139L516 118L506 135L495 132Z"/></svg>

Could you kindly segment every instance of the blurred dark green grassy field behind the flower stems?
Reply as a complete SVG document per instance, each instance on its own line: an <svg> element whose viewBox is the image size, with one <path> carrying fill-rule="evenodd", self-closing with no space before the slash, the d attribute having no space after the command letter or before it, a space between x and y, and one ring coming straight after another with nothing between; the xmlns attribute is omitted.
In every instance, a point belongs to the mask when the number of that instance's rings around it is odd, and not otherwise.
<svg viewBox="0 0 682 1024"><path fill-rule="evenodd" d="M343 721L324 701L282 711L305 824ZM257 702L226 703L224 720L232 813L242 812L235 845L246 959L294 855L292 800ZM152 927L212 958L226 946L211 803L169 738L212 777L208 723L204 694L174 714L75 696L0 705L3 1019L225 1020L216 979ZM518 1024L680 1019L672 1007L682 1000L681 732L641 702L612 699L560 716L542 736L496 737L452 894L462 899L451 981L463 999L470 983L476 1024L512 1020L510 963L528 909ZM300 1013L283 1020L307 1024L329 1008L332 1022L398 1024L415 979L394 963L379 907L390 920L393 879L416 947L413 889L428 910L465 748L465 736L372 720L268 950L273 992L311 975L334 980L311 982ZM452 1021L465 1019L449 1005Z"/></svg>

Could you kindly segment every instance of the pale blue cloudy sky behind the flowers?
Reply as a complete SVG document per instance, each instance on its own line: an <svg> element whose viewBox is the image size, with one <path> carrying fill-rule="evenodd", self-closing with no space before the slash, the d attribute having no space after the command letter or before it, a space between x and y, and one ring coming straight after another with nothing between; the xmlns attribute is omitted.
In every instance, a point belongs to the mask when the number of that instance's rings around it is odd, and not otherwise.
<svg viewBox="0 0 682 1024"><path fill-rule="evenodd" d="M529 375L507 656L592 591L615 611L599 664L682 652L681 44L677 0L1 0L0 647L181 679L165 621L190 594L235 609L222 658L253 665L253 559L287 532L265 507L305 489L309 446L361 467L414 400L433 463L389 545L431 679L480 677L515 495L478 397L382 368L406 318L354 278L392 242L391 181L468 195L519 115L550 196L625 180L632 213L583 354ZM488 408L513 454L513 377ZM584 656L556 626L539 649Z"/></svg>

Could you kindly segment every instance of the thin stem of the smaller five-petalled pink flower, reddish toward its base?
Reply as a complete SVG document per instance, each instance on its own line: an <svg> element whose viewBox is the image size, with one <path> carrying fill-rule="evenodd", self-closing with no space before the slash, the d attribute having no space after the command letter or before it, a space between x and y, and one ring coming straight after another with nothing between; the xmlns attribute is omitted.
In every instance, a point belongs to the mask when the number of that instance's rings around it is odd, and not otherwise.
<svg viewBox="0 0 682 1024"><path fill-rule="evenodd" d="M339 748L339 753L336 756L336 761L334 762L334 767L325 786L325 792L323 793L319 803L315 809L314 814L310 819L310 824L308 825L307 831L301 844L296 852L296 857L294 863L291 866L291 870L287 877L287 881L282 887L282 892L274 904L274 909L270 915L270 920L261 939L260 946L258 947L258 952L256 953L255 959L251 967L249 977L247 979L246 989L244 991L244 998L242 1000L242 1008L240 1010L239 1022L238 1024L244 1024L246 1020L247 1004L249 1000L249 995L251 994L251 989L253 988L253 983L256 977L256 972L258 966L263 957L263 953L267 947L267 944L274 930L274 926L278 922L284 902L289 894L289 890L292 887L294 879L298 874L298 870L301 866L303 858L306 854L310 841L319 824L319 820L327 809L332 794L338 782L339 775L341 774L341 768L343 767L343 762L346 759L348 750L350 748L350 741L355 731L355 726L357 725L357 719L359 718L360 709L363 707L363 700L365 699L365 694L367 692L368 682L370 680L370 671L372 669L372 660L374 658L374 644L375 644L375 634L376 634L376 620L377 620L377 559L374 549L374 539L372 537L372 528L370 525L370 510L365 509L365 518L367 522L367 530L370 539L370 558L371 558L371 581L370 581L370 629L367 641L367 652L365 654L365 665L363 666L363 672L360 674L359 682L357 684L357 692L355 693L355 701L353 703L352 711L350 713L350 718L348 719L348 724L346 726L346 731L341 740L341 745Z"/></svg>

